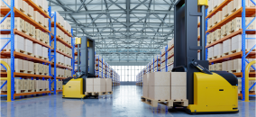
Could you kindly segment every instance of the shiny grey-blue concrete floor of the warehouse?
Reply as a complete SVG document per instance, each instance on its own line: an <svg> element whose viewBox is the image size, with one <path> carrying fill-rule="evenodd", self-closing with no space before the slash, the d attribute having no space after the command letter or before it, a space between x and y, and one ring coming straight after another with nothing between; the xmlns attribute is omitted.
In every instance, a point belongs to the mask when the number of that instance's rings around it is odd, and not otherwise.
<svg viewBox="0 0 256 117"><path fill-rule="evenodd" d="M152 108L141 102L142 86L120 85L114 94L99 99L62 99L62 94L41 95L6 103L1 98L0 117L186 117L186 112L171 110L159 104ZM255 97L250 103L239 101L238 113L197 114L193 117L255 117Z"/></svg>

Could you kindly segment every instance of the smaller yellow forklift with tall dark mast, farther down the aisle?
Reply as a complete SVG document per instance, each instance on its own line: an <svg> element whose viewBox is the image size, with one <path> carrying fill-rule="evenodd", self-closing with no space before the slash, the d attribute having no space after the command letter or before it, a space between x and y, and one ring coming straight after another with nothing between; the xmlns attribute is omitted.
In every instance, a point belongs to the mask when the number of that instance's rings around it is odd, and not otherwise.
<svg viewBox="0 0 256 117"><path fill-rule="evenodd" d="M63 80L63 98L85 98L86 79L96 77L95 40L84 36L76 38L76 44L78 45L78 72L74 77Z"/></svg>

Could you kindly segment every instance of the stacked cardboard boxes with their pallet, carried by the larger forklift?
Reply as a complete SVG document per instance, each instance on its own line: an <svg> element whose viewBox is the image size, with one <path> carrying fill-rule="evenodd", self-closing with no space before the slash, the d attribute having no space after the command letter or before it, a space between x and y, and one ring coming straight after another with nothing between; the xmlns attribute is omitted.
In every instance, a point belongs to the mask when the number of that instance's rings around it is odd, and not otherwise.
<svg viewBox="0 0 256 117"><path fill-rule="evenodd" d="M154 72L144 76L142 102L157 107L158 103L173 106L181 103L187 106L187 73L186 72ZM148 89L145 89L148 88ZM145 97L148 95L148 97Z"/></svg>

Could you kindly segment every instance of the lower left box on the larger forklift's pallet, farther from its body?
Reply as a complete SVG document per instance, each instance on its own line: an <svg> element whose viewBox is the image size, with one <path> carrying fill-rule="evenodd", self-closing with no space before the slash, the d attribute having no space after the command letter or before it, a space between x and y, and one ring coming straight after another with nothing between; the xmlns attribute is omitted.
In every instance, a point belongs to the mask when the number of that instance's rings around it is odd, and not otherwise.
<svg viewBox="0 0 256 117"><path fill-rule="evenodd" d="M149 98L154 100L169 100L170 86L149 86Z"/></svg>

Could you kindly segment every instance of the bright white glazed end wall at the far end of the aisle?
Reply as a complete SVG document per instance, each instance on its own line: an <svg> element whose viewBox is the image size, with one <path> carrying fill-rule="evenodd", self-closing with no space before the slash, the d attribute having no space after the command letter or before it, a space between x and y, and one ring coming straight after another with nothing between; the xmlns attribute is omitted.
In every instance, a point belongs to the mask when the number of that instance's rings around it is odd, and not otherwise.
<svg viewBox="0 0 256 117"><path fill-rule="evenodd" d="M145 66L111 66L114 71L120 75L121 82L135 82L136 75L142 71L142 68Z"/></svg>

